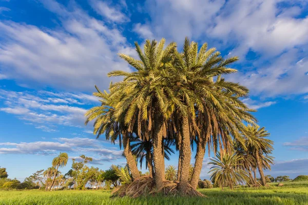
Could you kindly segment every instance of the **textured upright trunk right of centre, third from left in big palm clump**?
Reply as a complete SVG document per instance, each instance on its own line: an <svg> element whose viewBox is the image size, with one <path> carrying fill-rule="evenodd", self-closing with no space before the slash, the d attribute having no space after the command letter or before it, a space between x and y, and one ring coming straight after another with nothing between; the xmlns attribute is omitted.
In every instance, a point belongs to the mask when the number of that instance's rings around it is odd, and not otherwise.
<svg viewBox="0 0 308 205"><path fill-rule="evenodd" d="M189 132L189 122L188 117L183 117L182 122L182 152L181 152L181 172L180 172L180 192L186 195L188 179L189 179L189 168L191 159L191 149L190 149L190 132Z"/></svg>

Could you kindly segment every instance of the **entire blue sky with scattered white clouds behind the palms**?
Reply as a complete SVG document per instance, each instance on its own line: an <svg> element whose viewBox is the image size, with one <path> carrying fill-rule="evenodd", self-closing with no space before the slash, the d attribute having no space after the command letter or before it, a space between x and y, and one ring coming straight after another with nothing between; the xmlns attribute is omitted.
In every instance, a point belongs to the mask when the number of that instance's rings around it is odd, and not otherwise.
<svg viewBox="0 0 308 205"><path fill-rule="evenodd" d="M124 165L117 144L84 126L99 104L94 85L106 89L109 71L131 70L117 53L136 56L134 41L165 37L181 48L189 36L240 57L227 78L251 90L245 103L275 142L267 173L308 174L307 15L303 0L0 0L0 166L23 180L59 152L91 156L101 169Z"/></svg>

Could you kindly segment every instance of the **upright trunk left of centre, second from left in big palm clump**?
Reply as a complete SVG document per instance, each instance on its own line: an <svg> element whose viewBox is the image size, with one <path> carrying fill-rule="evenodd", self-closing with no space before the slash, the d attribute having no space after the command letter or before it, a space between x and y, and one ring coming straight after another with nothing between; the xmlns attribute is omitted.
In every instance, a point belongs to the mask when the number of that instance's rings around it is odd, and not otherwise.
<svg viewBox="0 0 308 205"><path fill-rule="evenodd" d="M163 116L159 113L154 115L154 130L153 130L153 162L155 170L156 188L160 191L163 187L162 163L162 140L163 140ZM164 171L164 170L163 170Z"/></svg>

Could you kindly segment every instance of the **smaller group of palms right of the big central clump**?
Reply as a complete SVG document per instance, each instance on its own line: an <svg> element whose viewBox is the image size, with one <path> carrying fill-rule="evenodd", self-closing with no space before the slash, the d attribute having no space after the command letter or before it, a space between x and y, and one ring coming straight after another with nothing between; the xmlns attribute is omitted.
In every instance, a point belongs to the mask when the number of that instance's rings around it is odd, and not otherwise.
<svg viewBox="0 0 308 205"><path fill-rule="evenodd" d="M274 157L269 154L273 151L273 141L267 139L269 133L265 128L255 125L247 125L245 127L245 135L243 134L244 144L234 141L233 152L217 154L216 158L212 158L208 163L213 165L210 168L211 180L215 185L221 187L230 187L247 182L248 186L258 186L256 180L256 169L260 174L261 185L266 185L263 170L271 169L274 163ZM255 173L253 177L252 173Z"/></svg>

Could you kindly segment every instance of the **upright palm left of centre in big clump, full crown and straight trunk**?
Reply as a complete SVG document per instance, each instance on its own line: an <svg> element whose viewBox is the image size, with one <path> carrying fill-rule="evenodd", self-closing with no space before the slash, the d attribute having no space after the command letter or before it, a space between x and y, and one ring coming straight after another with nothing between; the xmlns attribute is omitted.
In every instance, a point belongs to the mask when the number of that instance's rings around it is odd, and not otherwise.
<svg viewBox="0 0 308 205"><path fill-rule="evenodd" d="M123 81L114 83L110 87L112 95L119 99L115 106L115 116L125 113L125 124L133 129L135 122L138 125L138 136L151 138L153 144L153 162L155 181L158 190L163 186L164 156L163 137L166 137L166 120L169 119L170 107L166 88L170 77L165 71L169 66L171 55L176 48L170 43L164 49L165 39L159 43L156 40L146 40L144 53L138 43L135 43L139 60L125 54L120 57L127 61L136 71L112 71L108 76L123 76ZM143 134L141 134L143 133Z"/></svg>

